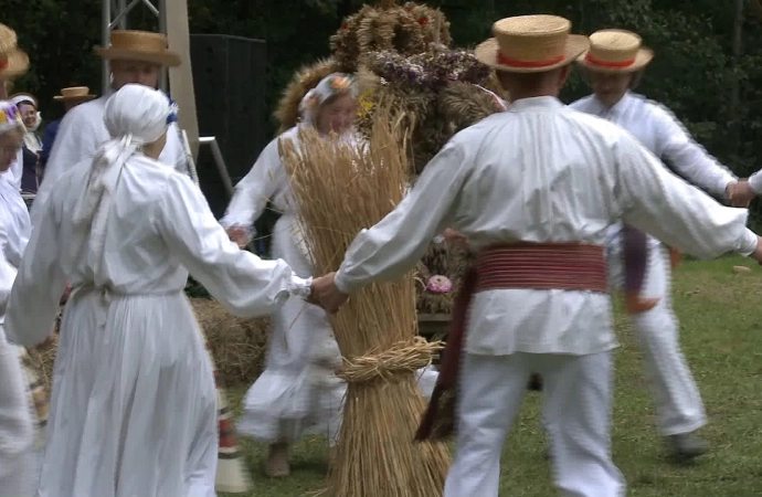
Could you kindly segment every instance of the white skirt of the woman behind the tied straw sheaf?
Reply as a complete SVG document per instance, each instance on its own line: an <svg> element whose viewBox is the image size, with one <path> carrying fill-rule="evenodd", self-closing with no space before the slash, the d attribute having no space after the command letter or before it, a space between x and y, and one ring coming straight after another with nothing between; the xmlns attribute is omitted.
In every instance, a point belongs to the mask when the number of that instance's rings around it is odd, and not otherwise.
<svg viewBox="0 0 762 497"><path fill-rule="evenodd" d="M275 223L273 257L286 261L301 277L315 276L293 215ZM334 373L340 364L341 352L326 313L289 299L273 316L265 370L246 392L239 432L267 443L325 435L334 445L347 391ZM419 385L427 398L436 377L433 368L419 371Z"/></svg>

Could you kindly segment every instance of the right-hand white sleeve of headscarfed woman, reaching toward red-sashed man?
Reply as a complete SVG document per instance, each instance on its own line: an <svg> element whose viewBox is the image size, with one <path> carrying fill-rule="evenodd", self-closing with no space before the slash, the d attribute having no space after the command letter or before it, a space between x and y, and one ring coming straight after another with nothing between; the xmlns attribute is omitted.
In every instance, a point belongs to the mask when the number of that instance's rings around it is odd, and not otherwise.
<svg viewBox="0 0 762 497"><path fill-rule="evenodd" d="M180 262L232 314L272 314L290 295L309 296L310 279L296 276L284 261L263 261L231 242L189 178L172 175L156 218Z"/></svg>

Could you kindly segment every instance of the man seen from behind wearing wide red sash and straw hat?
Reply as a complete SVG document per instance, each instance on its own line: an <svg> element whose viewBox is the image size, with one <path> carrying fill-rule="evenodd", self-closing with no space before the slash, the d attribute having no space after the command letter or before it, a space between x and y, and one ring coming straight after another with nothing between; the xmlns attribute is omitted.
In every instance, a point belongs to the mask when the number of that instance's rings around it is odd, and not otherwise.
<svg viewBox="0 0 762 497"><path fill-rule="evenodd" d="M453 137L411 193L362 231L334 278L315 289L336 311L372 281L414 267L445 228L467 236L477 262L417 436L452 433L445 416L457 406L445 497L498 495L500 452L531 372L543 377L562 495L624 495L610 447L617 345L606 293L611 224L624 219L703 257L734 251L762 260L745 210L720 205L618 126L558 99L589 44L570 31L571 22L554 15L495 23L495 38L476 56L497 70L514 102Z"/></svg>

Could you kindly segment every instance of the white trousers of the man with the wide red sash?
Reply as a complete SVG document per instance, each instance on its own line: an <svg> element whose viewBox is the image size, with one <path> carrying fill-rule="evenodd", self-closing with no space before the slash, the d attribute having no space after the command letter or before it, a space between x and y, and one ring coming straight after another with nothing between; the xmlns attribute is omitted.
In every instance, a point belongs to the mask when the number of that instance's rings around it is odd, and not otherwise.
<svg viewBox="0 0 762 497"><path fill-rule="evenodd" d="M589 356L477 356L462 362L457 443L445 497L497 497L500 453L527 392L543 378L555 485L565 497L620 497L624 477L611 458L611 352Z"/></svg>

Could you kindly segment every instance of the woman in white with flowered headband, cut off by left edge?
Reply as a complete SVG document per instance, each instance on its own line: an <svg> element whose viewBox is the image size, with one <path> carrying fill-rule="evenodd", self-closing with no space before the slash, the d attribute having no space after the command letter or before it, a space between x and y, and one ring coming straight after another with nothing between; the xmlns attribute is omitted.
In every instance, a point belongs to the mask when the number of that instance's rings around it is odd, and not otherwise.
<svg viewBox="0 0 762 497"><path fill-rule="evenodd" d="M0 102L0 172L8 171L15 160L24 133L15 105ZM21 349L8 342L3 322L29 232L27 204L11 178L0 175L0 494L19 497L31 497L34 491L34 427Z"/></svg>

